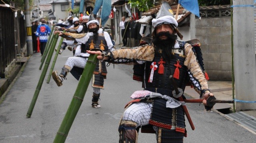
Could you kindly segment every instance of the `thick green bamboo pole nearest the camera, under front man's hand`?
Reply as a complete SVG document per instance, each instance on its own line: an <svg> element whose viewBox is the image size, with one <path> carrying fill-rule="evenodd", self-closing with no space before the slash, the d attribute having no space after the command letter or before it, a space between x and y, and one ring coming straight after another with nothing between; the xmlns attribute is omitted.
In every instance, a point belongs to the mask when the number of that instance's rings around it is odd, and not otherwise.
<svg viewBox="0 0 256 143"><path fill-rule="evenodd" d="M76 92L74 93L73 99L68 107L66 115L62 120L60 128L55 136L54 143L64 143L66 137L68 136L68 132L72 126L72 123L78 113L78 110L84 100L84 95L92 78L93 71L97 65L98 55L90 54L88 61L84 67L84 71L82 73L81 79L76 88Z"/></svg>

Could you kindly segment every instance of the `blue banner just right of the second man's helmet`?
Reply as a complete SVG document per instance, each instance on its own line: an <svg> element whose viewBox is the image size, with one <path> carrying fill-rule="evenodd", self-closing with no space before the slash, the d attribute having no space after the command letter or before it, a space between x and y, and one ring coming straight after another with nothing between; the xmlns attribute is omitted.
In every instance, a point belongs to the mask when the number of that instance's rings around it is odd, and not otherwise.
<svg viewBox="0 0 256 143"><path fill-rule="evenodd" d="M95 7L94 7L95 10ZM101 11L101 25L105 25L111 12L111 0L104 0Z"/></svg>

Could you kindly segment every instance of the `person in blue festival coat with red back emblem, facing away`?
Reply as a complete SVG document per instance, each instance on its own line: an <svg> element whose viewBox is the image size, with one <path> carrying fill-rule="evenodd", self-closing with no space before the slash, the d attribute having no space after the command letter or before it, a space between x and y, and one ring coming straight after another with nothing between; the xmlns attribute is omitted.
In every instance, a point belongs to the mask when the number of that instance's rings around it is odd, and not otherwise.
<svg viewBox="0 0 256 143"><path fill-rule="evenodd" d="M36 29L36 36L39 37L40 41L40 52L43 55L44 49L48 40L48 35L51 33L51 29L48 25L46 25L46 20L41 19L42 25L39 25Z"/></svg>

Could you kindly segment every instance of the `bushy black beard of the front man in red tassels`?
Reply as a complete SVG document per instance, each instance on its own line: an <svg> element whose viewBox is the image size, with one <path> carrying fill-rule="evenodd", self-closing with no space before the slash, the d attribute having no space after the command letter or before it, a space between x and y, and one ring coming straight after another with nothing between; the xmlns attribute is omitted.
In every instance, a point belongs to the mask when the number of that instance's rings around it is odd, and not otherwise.
<svg viewBox="0 0 256 143"><path fill-rule="evenodd" d="M161 40L159 37L165 35L167 39ZM156 34L156 37L153 39L153 43L156 48L156 52L162 51L162 57L165 60L174 59L175 56L172 53L174 45L176 43L177 35L170 34L169 32L159 32Z"/></svg>

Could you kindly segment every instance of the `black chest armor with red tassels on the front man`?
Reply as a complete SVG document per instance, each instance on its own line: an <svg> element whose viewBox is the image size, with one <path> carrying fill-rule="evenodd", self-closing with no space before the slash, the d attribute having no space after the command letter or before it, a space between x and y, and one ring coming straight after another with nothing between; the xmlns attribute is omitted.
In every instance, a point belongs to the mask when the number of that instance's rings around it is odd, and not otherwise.
<svg viewBox="0 0 256 143"><path fill-rule="evenodd" d="M174 74L178 74L178 76L176 76L177 78L174 78L177 86L184 89L187 75L187 68L184 66L184 61L184 55L175 53L175 59L171 59L170 61L164 61L162 57L156 55L154 61L146 62L144 79L146 90L158 93L161 93L160 90L162 90L163 93L161 94L172 97L174 87L169 77ZM152 68L155 68L153 69L153 73ZM178 73L176 73L177 71ZM159 90L156 91L156 88Z"/></svg>

